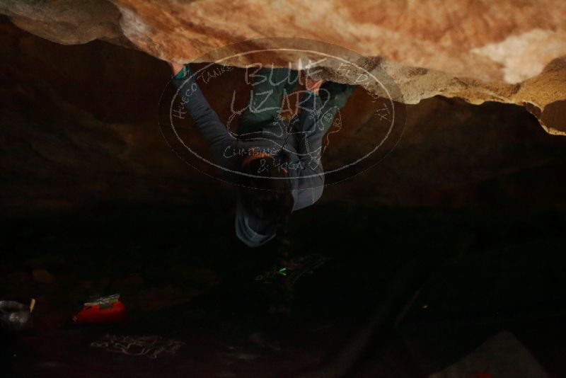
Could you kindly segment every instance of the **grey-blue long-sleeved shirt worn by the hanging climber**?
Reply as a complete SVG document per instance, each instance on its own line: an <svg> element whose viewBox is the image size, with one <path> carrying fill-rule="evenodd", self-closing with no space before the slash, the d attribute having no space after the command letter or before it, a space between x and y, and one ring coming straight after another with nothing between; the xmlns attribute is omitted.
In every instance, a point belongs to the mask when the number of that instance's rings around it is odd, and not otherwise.
<svg viewBox="0 0 566 378"><path fill-rule="evenodd" d="M299 127L294 127L295 131L289 132L289 127L278 120L267 119L262 129L264 132L258 137L240 139L226 129L204 97L197 84L197 76L191 74L187 68L188 66L185 66L185 69L175 75L173 84L178 88L180 101L183 102L195 127L209 145L214 164L223 171L226 181L245 183L245 176L241 174L241 161L235 158L233 151L244 151L244 154L248 154L249 151L266 151L275 155L279 150L284 149L289 158L285 168L287 168L291 181L293 211L313 205L322 195L324 186L324 171L320 163L322 137L328 131L337 110L347 101L352 88L345 91L340 104L333 103L334 105L325 107L323 107L320 96L315 93L307 93L308 98L305 98L301 104L303 108L312 111L301 111L298 119ZM244 239L255 236L257 233L253 229L262 227L258 227L259 224L255 224L254 227L255 221L250 219L249 214L243 215L245 209L241 204L238 204L237 212L236 229L238 230L238 227L246 229L248 236ZM238 236L243 239L240 234ZM258 236L258 240L262 241L260 244L275 235L268 236ZM246 240L243 241L246 242ZM253 245L253 243L248 245Z"/></svg>

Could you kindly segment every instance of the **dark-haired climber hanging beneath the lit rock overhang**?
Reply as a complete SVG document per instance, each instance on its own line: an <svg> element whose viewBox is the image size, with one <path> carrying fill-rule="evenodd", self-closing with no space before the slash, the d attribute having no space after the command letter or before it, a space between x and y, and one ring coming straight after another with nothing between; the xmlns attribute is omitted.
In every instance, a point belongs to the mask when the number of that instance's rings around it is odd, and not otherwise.
<svg viewBox="0 0 566 378"><path fill-rule="evenodd" d="M294 88L301 73L259 69L235 137L210 108L190 66L170 65L173 84L216 165L226 181L238 184L238 239L250 247L262 246L275 237L291 212L313 205L322 195L322 138L354 87L307 77L301 111L284 120L279 116L284 93Z"/></svg>

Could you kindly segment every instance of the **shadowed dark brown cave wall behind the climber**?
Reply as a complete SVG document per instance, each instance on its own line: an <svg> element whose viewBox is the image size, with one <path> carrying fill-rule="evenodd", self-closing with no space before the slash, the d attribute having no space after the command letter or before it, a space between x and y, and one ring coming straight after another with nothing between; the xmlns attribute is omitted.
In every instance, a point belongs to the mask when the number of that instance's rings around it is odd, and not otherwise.
<svg viewBox="0 0 566 378"><path fill-rule="evenodd" d="M93 41L61 45L0 23L0 195L4 214L101 204L226 201L233 188L187 166L166 145L158 101L171 75L143 52ZM229 77L227 76L229 80ZM212 96L225 118L231 98ZM244 88L245 89L245 88ZM209 91L209 92L207 92ZM215 92L216 91L216 92ZM325 164L371 140L357 90ZM524 108L429 98L408 105L391 154L325 188L323 201L384 206L504 209L565 207L566 139L545 133ZM325 158L326 159L326 158Z"/></svg>

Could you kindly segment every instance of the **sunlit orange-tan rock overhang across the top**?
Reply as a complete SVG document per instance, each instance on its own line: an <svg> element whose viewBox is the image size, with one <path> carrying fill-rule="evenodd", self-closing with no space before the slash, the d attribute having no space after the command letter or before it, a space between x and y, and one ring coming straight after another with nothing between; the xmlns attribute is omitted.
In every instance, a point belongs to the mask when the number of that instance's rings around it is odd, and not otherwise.
<svg viewBox="0 0 566 378"><path fill-rule="evenodd" d="M400 86L399 101L418 103L441 95L476 104L516 103L536 115L546 131L566 134L562 0L112 3L4 0L0 11L19 27L54 42L102 38L183 62L203 60L211 50L254 38L331 42L364 57L379 57L368 59L364 68L385 69ZM274 47L274 42L250 45ZM316 43L312 47L316 50ZM234 48L238 52L242 47ZM327 76L348 81L332 72Z"/></svg>

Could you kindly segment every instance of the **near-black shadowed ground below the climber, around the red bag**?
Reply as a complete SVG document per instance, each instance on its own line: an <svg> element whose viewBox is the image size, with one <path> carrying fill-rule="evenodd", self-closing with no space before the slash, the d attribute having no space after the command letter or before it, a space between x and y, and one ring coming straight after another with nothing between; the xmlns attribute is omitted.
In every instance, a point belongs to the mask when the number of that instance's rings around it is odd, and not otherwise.
<svg viewBox="0 0 566 378"><path fill-rule="evenodd" d="M272 263L277 242L243 248L232 235L228 203L108 205L4 222L9 253L0 265L0 295L37 298L35 329L3 338L4 371L23 377L296 377L337 359L415 257L415 279L399 292L391 314L398 325L372 336L348 376L424 376L502 330L514 333L549 373L560 377L566 370L562 213L332 203L299 212L290 230L294 252L330 260L296 283L291 315L282 316L267 311L275 287L254 281ZM37 268L52 273L54 282L35 282ZM129 309L126 323L66 325L81 297L112 292L120 292ZM400 317L404 304L409 308ZM157 359L90 346L106 333L158 335L185 345Z"/></svg>

